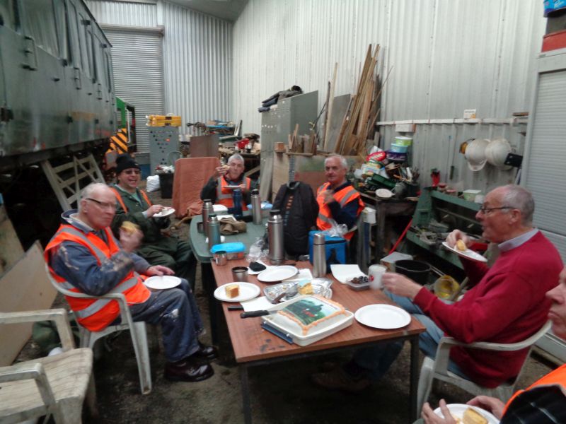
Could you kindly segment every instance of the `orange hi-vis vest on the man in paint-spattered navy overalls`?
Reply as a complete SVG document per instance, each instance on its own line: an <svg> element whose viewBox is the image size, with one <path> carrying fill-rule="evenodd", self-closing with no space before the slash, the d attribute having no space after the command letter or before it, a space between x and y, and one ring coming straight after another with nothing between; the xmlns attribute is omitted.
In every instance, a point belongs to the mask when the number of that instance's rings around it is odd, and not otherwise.
<svg viewBox="0 0 566 424"><path fill-rule="evenodd" d="M93 232L82 232L73 225L62 224L55 233L52 240L45 247L45 261L50 262L50 256L54 249L57 249L62 242L75 242L79 245L87 247L96 257L98 265L102 264L105 259L110 258L113 254L120 251L117 241L112 235L110 228L103 230L108 240L108 245L96 236ZM81 293L79 288L65 281L64 278L54 273L51 266L49 267L51 275L57 283L63 288L71 290L75 293ZM109 293L123 293L126 296L128 305L143 303L148 300L150 292L143 283L141 276L135 271L129 271L125 278L120 281L115 288ZM65 297L69 306L73 310L79 324L91 331L100 331L111 324L119 315L120 307L116 300L110 299L81 299Z"/></svg>

